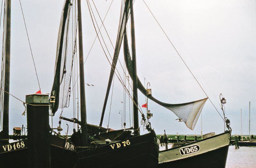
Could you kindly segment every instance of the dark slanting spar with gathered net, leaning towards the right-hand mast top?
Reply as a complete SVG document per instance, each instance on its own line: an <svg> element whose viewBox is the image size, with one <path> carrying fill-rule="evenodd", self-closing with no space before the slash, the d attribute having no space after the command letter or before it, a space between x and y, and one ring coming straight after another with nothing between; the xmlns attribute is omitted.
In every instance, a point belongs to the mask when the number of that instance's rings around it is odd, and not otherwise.
<svg viewBox="0 0 256 168"><path fill-rule="evenodd" d="M107 91L106 91L105 101L104 101L103 108L102 108L100 126L102 126L102 122L103 122L103 118L104 118L104 114L105 114L105 109L106 109L107 101L108 101L108 95L109 95L109 91L110 91L110 88L111 88L111 83L112 83L114 73L115 73L115 69L116 69L116 62L118 60L121 44L122 44L123 37L124 37L124 28L125 28L126 23L127 23L127 19L125 19L125 13L128 13L128 11L130 10L130 1L125 0L125 2L124 1L122 1L122 2L123 2L123 4L122 4L120 20L119 20L118 35L117 35L117 39L116 39L116 47L115 47L114 57L113 57L112 65L111 65L111 70L110 70L110 75L109 75L109 80L108 80L108 87L107 87Z"/></svg>

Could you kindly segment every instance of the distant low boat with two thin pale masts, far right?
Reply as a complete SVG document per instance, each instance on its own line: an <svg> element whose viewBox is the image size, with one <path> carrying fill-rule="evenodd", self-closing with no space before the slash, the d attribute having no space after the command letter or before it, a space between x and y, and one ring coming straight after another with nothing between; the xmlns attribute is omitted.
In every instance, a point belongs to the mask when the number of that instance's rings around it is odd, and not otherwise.
<svg viewBox="0 0 256 168"><path fill-rule="evenodd" d="M256 138L251 135L251 101L249 101L249 140L243 140L243 129L242 129L242 109L241 109L241 134L242 140L238 141L239 146L256 146Z"/></svg>

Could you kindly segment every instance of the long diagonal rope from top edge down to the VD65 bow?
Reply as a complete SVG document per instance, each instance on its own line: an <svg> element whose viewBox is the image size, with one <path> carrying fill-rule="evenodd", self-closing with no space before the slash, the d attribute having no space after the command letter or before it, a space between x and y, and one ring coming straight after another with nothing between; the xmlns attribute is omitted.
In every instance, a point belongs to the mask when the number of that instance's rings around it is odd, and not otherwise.
<svg viewBox="0 0 256 168"><path fill-rule="evenodd" d="M147 3L143 0L143 2L145 3L145 5L147 6L148 10L150 11L150 13L152 14L152 16L154 17L154 19L156 20L157 24L159 25L159 27L162 29L162 31L164 32L164 29L162 28L162 26L159 24L159 22L157 21L156 17L153 15L153 13L151 12L151 10L149 9ZM167 36L167 34L164 32L166 38L169 40L169 42L172 44L171 40L169 39L169 37ZM208 95L205 93L204 89L202 88L202 86L200 85L200 83L197 81L196 77L194 76L194 74L191 72L191 70L189 69L188 65L185 63L185 61L182 59L182 57L180 56L180 53L177 51L177 49L175 48L175 46L172 44L174 50L176 51L176 53L179 55L180 59L183 61L183 63L185 64L185 66L188 68L189 72L192 74L192 76L194 77L194 79L196 80L196 82L198 83L198 85L200 86L200 88L203 90L204 94L207 96L207 98L209 99L209 101L212 103L211 99L208 97ZM213 107L217 110L217 108L214 106L214 104L212 103ZM220 115L220 112L217 110L217 112ZM225 121L225 119L220 115L220 117Z"/></svg>

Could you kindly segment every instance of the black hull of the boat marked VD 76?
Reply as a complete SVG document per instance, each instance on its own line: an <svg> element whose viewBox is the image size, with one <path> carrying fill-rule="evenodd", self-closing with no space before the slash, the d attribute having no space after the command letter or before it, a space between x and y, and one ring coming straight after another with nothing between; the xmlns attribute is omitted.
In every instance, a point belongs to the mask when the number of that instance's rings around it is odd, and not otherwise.
<svg viewBox="0 0 256 168"><path fill-rule="evenodd" d="M159 146L156 141L156 134L152 132L119 141L117 142L121 144L119 148L117 148L116 143L113 143L114 145L108 144L94 150L77 152L77 168L155 168L158 164L159 153ZM124 146L124 142L130 144Z"/></svg>

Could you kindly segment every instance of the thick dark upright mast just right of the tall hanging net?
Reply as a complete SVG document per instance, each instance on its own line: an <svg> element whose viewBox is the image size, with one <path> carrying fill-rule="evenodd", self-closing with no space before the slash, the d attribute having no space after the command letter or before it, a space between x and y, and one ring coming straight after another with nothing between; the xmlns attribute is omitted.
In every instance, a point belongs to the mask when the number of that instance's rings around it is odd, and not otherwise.
<svg viewBox="0 0 256 168"><path fill-rule="evenodd" d="M82 15L81 0L77 0L78 7L78 39L79 39L79 73L80 73L80 102L81 102L81 131L82 146L88 146L87 140L87 119L85 106L85 88L84 88L84 54L83 54L83 34L82 34Z"/></svg>

